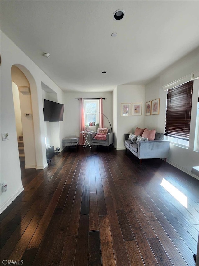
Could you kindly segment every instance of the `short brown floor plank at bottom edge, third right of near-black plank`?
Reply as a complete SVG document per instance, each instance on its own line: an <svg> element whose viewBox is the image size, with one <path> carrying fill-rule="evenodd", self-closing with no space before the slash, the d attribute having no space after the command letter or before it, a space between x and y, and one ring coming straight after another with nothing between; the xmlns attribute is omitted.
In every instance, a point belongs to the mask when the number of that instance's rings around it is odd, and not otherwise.
<svg viewBox="0 0 199 266"><path fill-rule="evenodd" d="M131 266L144 266L136 241L125 241Z"/></svg>

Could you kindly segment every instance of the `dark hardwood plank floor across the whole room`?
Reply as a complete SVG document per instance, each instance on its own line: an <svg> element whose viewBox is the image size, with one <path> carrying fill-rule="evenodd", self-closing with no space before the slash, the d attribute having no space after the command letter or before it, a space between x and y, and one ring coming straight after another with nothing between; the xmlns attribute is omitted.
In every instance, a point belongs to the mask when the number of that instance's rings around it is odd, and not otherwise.
<svg viewBox="0 0 199 266"><path fill-rule="evenodd" d="M44 170L21 162L21 175L1 214L1 265L195 265L199 181L161 159L71 147Z"/></svg>

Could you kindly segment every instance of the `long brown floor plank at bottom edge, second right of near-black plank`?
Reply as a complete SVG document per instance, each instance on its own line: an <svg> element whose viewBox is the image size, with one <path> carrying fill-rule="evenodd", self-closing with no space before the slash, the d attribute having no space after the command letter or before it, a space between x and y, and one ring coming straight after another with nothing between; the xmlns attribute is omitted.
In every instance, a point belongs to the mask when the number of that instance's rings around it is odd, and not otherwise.
<svg viewBox="0 0 199 266"><path fill-rule="evenodd" d="M111 197L106 197L105 201L109 218L109 226L111 230L116 265L130 265L122 232L120 230L117 214L114 209L113 200Z"/></svg>

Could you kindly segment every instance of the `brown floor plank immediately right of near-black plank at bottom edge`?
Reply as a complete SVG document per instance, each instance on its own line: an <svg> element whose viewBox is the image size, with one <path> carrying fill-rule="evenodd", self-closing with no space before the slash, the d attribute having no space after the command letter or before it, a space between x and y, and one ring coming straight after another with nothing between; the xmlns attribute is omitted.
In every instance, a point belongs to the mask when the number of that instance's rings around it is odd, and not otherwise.
<svg viewBox="0 0 199 266"><path fill-rule="evenodd" d="M102 253L102 265L103 266L116 266L113 244L111 239L111 232L109 227L109 219L107 215L99 216L99 228L100 228L100 243Z"/></svg>

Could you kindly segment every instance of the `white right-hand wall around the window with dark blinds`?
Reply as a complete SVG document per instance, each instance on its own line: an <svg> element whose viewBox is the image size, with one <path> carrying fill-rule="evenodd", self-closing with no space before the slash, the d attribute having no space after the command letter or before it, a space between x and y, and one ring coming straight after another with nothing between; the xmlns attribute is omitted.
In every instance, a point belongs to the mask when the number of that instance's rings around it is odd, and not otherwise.
<svg viewBox="0 0 199 266"><path fill-rule="evenodd" d="M165 130L165 117L166 117L166 99L167 93L163 91L162 86L178 80L186 75L191 74L199 69L199 51L198 49L192 51L187 56L170 66L161 75L150 84L146 85L146 98L145 102L160 98L160 114L145 116L145 127L155 128L156 131L164 133ZM192 166L199 165L199 152L194 151L196 144L195 132L198 123L197 113L197 100L198 100L198 80L194 81L193 96L192 96L192 116L190 124L190 140L189 147L182 148L170 144L170 154L167 162L175 167L191 174ZM195 145L196 146L196 145ZM194 176L196 177L196 176ZM198 178L198 177L196 177Z"/></svg>

